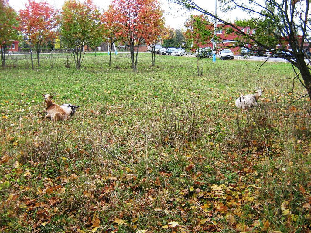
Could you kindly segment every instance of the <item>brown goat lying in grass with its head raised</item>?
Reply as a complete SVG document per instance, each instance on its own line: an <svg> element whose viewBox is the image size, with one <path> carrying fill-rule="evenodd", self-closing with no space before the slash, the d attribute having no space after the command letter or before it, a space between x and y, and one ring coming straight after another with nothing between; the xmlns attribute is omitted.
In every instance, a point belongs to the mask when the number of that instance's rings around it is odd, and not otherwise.
<svg viewBox="0 0 311 233"><path fill-rule="evenodd" d="M42 94L44 97L44 102L46 104L47 114L45 118L51 117L52 121L67 120L69 119L69 114L61 108L58 104L52 103L54 95Z"/></svg>

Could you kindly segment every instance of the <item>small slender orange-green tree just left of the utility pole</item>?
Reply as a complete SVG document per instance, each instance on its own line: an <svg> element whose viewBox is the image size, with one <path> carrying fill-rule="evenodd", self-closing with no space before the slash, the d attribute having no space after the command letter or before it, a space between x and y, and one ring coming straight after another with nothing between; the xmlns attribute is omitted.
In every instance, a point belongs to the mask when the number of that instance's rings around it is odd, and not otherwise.
<svg viewBox="0 0 311 233"><path fill-rule="evenodd" d="M189 16L185 22L186 32L185 36L188 39L188 43L192 44L192 49L198 50L197 56L197 74L202 75L199 69L199 50L200 45L207 43L211 39L213 29L209 26L209 20L205 15Z"/></svg>

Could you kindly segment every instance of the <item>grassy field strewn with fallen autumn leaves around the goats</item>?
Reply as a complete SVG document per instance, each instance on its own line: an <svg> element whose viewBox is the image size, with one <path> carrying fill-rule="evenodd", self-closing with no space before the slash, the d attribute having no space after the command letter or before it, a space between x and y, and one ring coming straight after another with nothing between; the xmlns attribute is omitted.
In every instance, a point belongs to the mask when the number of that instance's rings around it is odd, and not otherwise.
<svg viewBox="0 0 311 233"><path fill-rule="evenodd" d="M310 101L290 64L206 59L197 76L194 57L139 54L132 72L128 56L7 59L1 232L311 232ZM52 122L41 94L81 107Z"/></svg>

